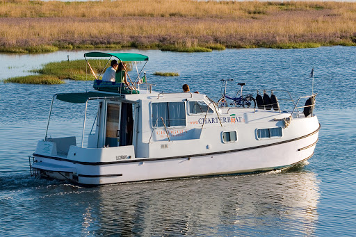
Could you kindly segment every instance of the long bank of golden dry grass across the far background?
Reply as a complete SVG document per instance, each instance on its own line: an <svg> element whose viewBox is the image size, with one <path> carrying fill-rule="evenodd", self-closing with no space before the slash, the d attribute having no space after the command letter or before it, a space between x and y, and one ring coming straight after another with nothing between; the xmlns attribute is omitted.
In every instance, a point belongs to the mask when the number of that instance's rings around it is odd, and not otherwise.
<svg viewBox="0 0 356 237"><path fill-rule="evenodd" d="M356 3L0 1L0 51L210 51L338 44L356 45Z"/></svg>

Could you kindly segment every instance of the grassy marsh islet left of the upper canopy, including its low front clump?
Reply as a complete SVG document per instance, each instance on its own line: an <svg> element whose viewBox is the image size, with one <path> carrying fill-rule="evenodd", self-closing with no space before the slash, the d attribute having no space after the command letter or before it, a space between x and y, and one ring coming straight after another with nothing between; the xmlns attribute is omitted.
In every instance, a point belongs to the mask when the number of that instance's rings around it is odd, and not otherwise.
<svg viewBox="0 0 356 237"><path fill-rule="evenodd" d="M102 72L107 60L89 60L95 74ZM17 76L6 79L4 83L22 83L22 84L62 84L67 80L92 81L94 76L87 67L86 60L62 61L56 63L47 63L41 69L31 70L37 75Z"/></svg>

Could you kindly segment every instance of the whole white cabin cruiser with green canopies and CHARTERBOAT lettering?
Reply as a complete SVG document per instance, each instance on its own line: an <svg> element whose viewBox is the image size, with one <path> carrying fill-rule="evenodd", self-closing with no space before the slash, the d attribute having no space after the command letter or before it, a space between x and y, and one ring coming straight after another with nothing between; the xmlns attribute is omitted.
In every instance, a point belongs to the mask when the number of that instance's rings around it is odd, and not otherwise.
<svg viewBox="0 0 356 237"><path fill-rule="evenodd" d="M84 56L86 60L115 58L131 65L148 61L147 56L129 53ZM135 83L141 72L136 80L128 78L131 90L123 83L101 81L93 72L94 91L54 95L49 120L54 99L86 104L81 140L48 137L48 120L46 135L31 156L31 174L100 185L282 169L314 154L320 129L312 112L314 94L296 103L291 99L293 111L289 112L266 94L254 99L228 97L224 92L215 103L191 92L154 92L145 80ZM244 83L239 85L242 95ZM303 98L309 99L298 107ZM90 123L92 131L86 135L87 106L92 100L99 106L94 124Z"/></svg>

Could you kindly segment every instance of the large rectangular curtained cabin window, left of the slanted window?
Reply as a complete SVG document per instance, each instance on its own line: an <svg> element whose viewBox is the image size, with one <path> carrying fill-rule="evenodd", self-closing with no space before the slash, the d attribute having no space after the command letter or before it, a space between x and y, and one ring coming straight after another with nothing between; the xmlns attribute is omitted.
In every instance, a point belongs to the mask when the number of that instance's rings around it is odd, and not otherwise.
<svg viewBox="0 0 356 237"><path fill-rule="evenodd" d="M152 103L152 126L186 126L186 105L181 102Z"/></svg>

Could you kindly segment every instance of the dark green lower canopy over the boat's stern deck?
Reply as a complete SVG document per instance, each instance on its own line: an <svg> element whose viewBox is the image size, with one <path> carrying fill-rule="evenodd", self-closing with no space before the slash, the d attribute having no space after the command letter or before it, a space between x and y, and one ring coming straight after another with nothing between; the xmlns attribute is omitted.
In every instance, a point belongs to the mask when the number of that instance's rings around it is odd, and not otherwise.
<svg viewBox="0 0 356 237"><path fill-rule="evenodd" d="M70 103L86 103L89 98L112 98L112 97L123 97L122 95L101 93L101 92L81 92L81 93L63 93L57 94L57 99Z"/></svg>

